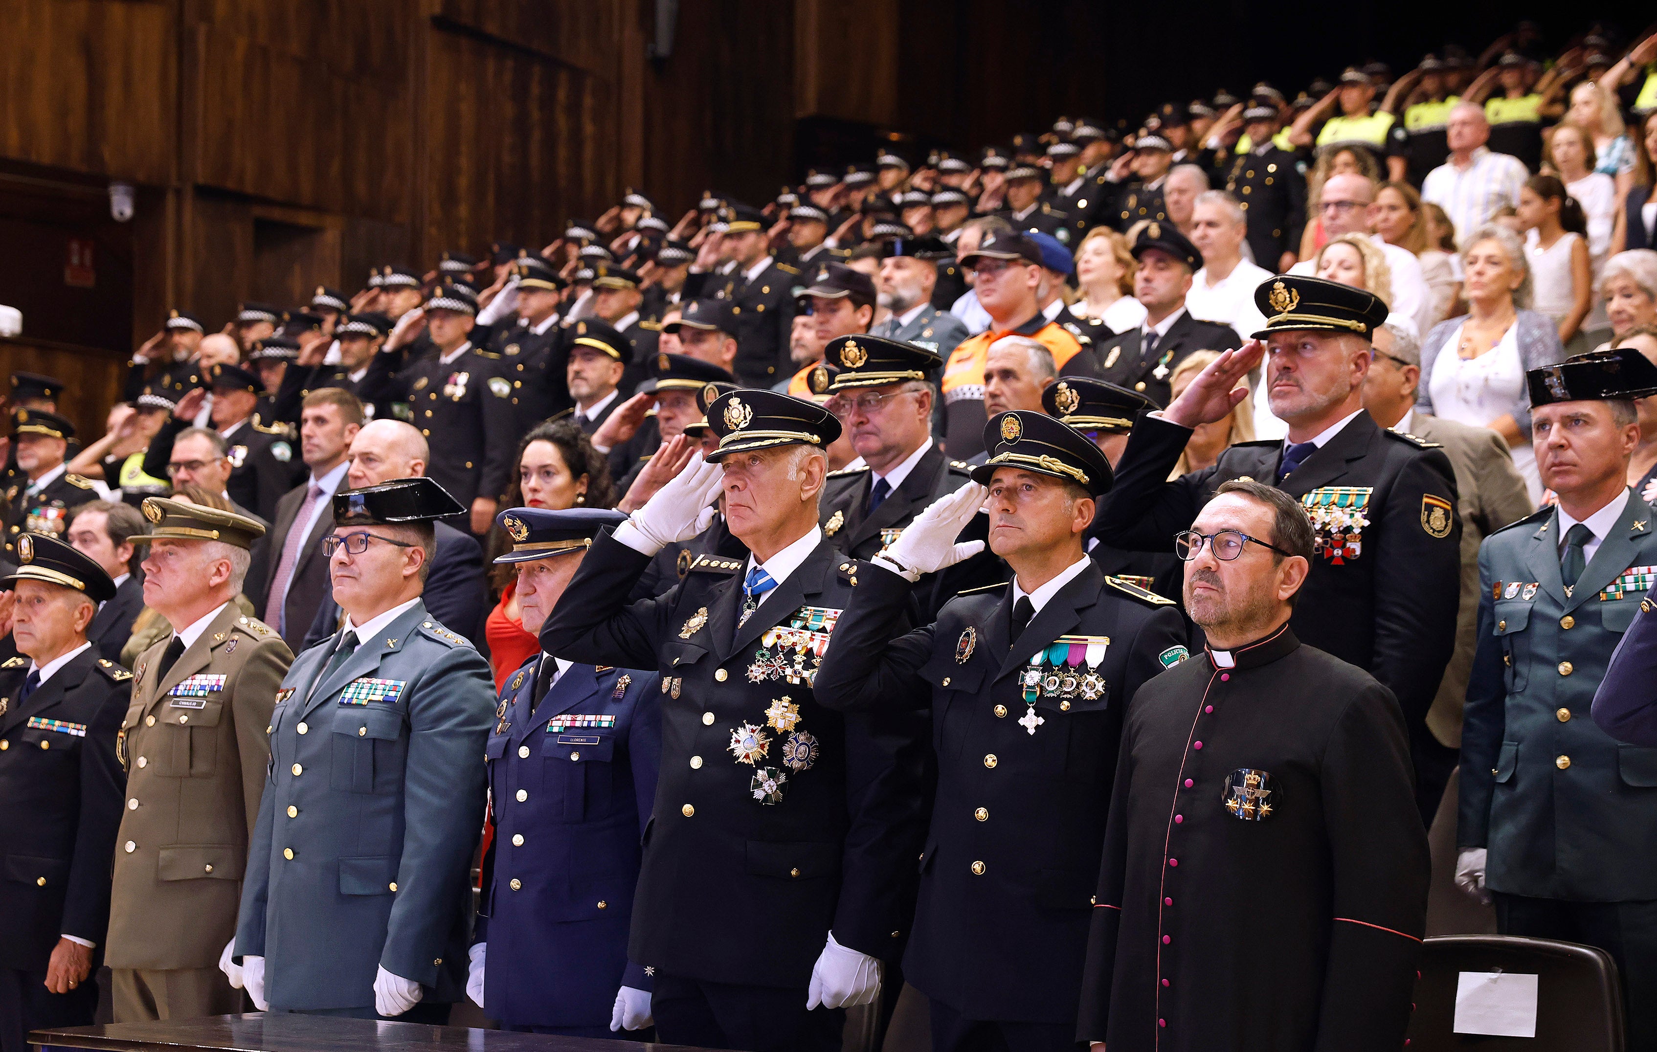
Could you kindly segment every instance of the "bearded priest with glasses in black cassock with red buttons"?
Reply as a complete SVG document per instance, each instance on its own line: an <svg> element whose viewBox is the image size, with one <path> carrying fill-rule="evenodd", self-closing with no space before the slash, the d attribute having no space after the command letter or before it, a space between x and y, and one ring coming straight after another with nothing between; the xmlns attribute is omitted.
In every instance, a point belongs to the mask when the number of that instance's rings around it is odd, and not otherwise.
<svg viewBox="0 0 1657 1052"><path fill-rule="evenodd" d="M1231 479L1175 543L1206 653L1122 729L1075 1039L1399 1049L1428 873L1399 704L1292 628L1319 560L1299 500ZM1216 968L1239 953L1273 981Z"/></svg>

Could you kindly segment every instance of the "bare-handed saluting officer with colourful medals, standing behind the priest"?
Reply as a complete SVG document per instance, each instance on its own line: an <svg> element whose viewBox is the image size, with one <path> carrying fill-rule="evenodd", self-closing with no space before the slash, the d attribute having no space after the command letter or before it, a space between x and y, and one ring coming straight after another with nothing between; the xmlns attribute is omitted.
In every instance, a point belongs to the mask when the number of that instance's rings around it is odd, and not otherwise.
<svg viewBox="0 0 1657 1052"><path fill-rule="evenodd" d="M1375 676L1418 744L1417 800L1432 822L1453 767L1430 741L1427 711L1455 649L1461 522L1455 471L1432 442L1382 431L1364 413L1370 335L1387 305L1321 278L1279 277L1254 292L1266 328L1225 351L1160 413L1138 419L1117 466L1100 538L1167 552L1221 482L1258 479L1297 499L1317 547L1294 630ZM1263 343L1264 341L1264 343ZM1213 467L1168 480L1191 429L1225 419L1264 361L1271 411L1287 439L1239 442Z"/></svg>

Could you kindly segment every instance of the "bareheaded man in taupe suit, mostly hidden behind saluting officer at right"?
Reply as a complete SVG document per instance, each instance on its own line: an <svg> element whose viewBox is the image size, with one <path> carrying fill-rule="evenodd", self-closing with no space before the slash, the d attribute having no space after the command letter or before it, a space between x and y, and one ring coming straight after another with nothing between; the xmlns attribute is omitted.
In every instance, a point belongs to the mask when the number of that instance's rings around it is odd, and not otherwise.
<svg viewBox="0 0 1657 1052"><path fill-rule="evenodd" d="M1478 545L1486 537L1524 519L1533 510L1529 490L1513 466L1508 442L1490 427L1427 416L1413 408L1422 378L1422 346L1413 335L1384 325L1375 330L1375 353L1364 379L1364 408L1382 427L1394 427L1443 446L1455 469L1457 514L1461 517L1461 606L1455 626L1455 653L1445 666L1438 694L1427 711L1427 729L1450 762L1461 747L1461 706L1478 643ZM1458 772L1452 772L1445 800L1433 818L1428 843L1433 878L1427 901L1428 934L1480 934L1496 931L1490 906L1455 886L1455 822Z"/></svg>

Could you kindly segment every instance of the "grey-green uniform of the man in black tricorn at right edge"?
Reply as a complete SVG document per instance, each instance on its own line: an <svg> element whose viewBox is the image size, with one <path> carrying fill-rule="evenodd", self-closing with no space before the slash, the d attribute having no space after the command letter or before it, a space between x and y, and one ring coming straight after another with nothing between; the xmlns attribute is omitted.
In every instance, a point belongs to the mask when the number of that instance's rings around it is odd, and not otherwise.
<svg viewBox="0 0 1657 1052"><path fill-rule="evenodd" d="M1611 953L1640 1052L1657 1049L1657 749L1617 742L1589 711L1624 633L1652 616L1639 610L1654 527L1630 492L1569 593L1556 509L1485 538L1457 830L1488 850L1498 931Z"/></svg>

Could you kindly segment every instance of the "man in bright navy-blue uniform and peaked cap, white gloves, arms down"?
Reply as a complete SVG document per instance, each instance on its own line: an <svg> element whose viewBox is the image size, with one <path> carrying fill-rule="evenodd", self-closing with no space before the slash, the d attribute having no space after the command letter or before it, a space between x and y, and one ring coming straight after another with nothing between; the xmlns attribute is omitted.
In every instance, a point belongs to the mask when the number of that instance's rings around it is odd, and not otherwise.
<svg viewBox="0 0 1657 1052"><path fill-rule="evenodd" d="M540 631L598 530L623 522L606 509L500 514L512 550L495 563L517 567L525 631ZM495 838L466 991L507 1030L650 1025L651 976L626 959L626 938L656 799L658 694L656 673L545 653L500 691L486 754Z"/></svg>

